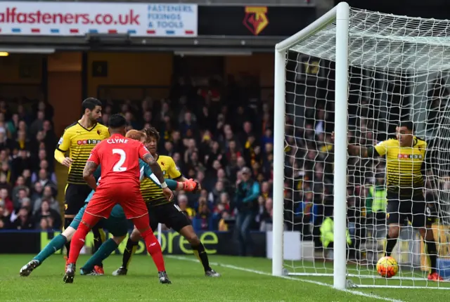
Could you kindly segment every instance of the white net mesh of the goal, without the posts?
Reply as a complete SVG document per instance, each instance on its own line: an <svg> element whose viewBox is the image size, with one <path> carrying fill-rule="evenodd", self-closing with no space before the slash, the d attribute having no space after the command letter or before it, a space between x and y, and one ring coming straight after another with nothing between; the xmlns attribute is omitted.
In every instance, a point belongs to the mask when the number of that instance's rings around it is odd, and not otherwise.
<svg viewBox="0 0 450 302"><path fill-rule="evenodd" d="M285 225L300 232L302 259L284 261L292 274L333 274L335 22L290 48L286 63ZM349 143L373 146L392 138L401 120L415 122L428 142L432 171L426 200L434 205L439 266L450 265L450 29L449 21L351 9L349 27ZM430 282L419 232L406 223L392 256L400 270L378 276L387 224L385 159L349 157L347 221L349 279L362 286L445 287ZM322 228L322 229L321 229ZM447 262L448 261L448 262ZM443 266L442 266L443 267ZM450 278L450 271L440 272Z"/></svg>

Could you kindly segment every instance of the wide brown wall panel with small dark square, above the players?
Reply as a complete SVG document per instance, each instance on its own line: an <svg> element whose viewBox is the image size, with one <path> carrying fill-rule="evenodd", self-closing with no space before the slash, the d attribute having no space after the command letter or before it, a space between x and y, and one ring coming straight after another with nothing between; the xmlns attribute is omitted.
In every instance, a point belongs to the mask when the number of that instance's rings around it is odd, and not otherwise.
<svg viewBox="0 0 450 302"><path fill-rule="evenodd" d="M172 53L88 53L87 92L100 85L169 86Z"/></svg>

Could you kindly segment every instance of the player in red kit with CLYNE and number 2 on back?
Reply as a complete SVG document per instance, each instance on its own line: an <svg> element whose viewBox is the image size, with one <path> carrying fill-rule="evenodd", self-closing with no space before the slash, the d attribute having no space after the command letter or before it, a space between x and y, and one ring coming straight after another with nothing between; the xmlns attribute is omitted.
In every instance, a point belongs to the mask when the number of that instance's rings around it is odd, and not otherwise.
<svg viewBox="0 0 450 302"><path fill-rule="evenodd" d="M96 192L89 202L82 223L70 243L69 264L65 270L63 281L72 283L75 277L75 263L79 252L84 246L84 239L101 218L108 218L116 204L124 209L125 216L131 219L141 232L150 256L158 268L161 283L170 283L165 272L164 259L158 239L150 229L146 203L143 201L139 182L139 158L146 162L155 176L160 180L164 195L172 199L172 191L167 188L164 175L147 148L138 140L125 137L127 121L120 114L114 114L109 119L110 138L102 140L91 151L83 171L86 183ZM96 185L92 175L101 165L101 180Z"/></svg>

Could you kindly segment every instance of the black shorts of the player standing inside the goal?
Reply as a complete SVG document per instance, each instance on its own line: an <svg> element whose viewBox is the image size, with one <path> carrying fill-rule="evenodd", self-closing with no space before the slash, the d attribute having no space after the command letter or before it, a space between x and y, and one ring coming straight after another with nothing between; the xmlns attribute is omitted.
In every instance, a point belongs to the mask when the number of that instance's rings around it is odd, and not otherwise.
<svg viewBox="0 0 450 302"><path fill-rule="evenodd" d="M432 224L430 209L423 195L401 197L387 193L387 224L404 225L406 220L413 228L425 228Z"/></svg>

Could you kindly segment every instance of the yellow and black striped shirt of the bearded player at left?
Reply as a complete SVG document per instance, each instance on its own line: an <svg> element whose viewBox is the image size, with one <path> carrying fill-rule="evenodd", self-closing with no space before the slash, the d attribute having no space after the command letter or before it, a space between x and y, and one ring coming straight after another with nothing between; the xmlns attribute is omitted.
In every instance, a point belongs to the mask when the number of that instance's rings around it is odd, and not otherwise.
<svg viewBox="0 0 450 302"><path fill-rule="evenodd" d="M101 140L109 137L108 127L102 124L95 124L91 129L86 129L79 122L75 122L64 130L56 149L61 152L70 150L69 157L73 162L69 168L68 183L86 184L83 179L83 170L91 150Z"/></svg>

